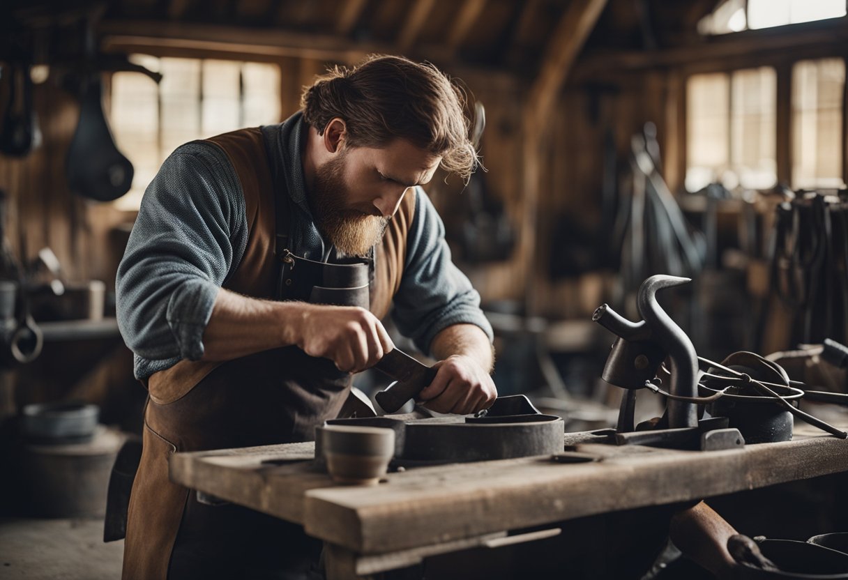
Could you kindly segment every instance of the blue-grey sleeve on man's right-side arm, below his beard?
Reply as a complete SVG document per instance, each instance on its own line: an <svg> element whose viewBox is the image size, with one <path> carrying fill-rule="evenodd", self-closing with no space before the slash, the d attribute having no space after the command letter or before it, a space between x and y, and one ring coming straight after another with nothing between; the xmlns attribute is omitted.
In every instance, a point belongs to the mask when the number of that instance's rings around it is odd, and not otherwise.
<svg viewBox="0 0 848 580"><path fill-rule="evenodd" d="M492 326L480 310L480 295L451 261L442 219L421 188L406 252L392 313L399 331L424 353L429 353L438 332L455 324L480 326L491 340Z"/></svg>

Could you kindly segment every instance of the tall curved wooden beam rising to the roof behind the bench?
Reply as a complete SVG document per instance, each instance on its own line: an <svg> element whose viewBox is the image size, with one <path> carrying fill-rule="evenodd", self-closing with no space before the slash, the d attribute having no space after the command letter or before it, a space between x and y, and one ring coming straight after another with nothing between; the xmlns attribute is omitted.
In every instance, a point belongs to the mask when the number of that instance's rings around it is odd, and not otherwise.
<svg viewBox="0 0 848 580"><path fill-rule="evenodd" d="M527 315L538 309L536 232L538 227L538 198L541 190L542 159L549 141L545 131L556 98L566 81L577 54L597 23L606 0L573 0L556 25L545 50L538 77L527 94L524 108L522 150L522 230L519 239L519 263L526 282L525 310Z"/></svg>

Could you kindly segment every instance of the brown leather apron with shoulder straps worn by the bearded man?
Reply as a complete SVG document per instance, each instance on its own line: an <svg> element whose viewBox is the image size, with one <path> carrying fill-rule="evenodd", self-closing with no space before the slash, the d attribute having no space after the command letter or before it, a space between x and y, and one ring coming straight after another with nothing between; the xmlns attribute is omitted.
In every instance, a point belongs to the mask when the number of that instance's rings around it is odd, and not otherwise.
<svg viewBox="0 0 848 580"><path fill-rule="evenodd" d="M276 215L275 202L287 204L288 193L271 178L261 131L233 131L209 142L236 170L248 222L243 258L223 287L256 298L368 304L378 318L388 313L403 275L414 195L404 197L371 267L325 265L276 242L287 239L276 231L287 230L287 216ZM181 360L150 376L123 578L308 577L321 546L302 527L237 505L198 503L196 494L170 482L168 458L176 451L311 441L316 425L338 415L350 382L332 361L294 346L223 363Z"/></svg>

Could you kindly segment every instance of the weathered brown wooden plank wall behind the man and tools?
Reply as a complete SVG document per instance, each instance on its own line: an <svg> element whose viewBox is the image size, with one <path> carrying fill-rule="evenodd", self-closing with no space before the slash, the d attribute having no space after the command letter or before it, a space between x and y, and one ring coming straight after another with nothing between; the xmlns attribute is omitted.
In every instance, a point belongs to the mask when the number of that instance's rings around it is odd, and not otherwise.
<svg viewBox="0 0 848 580"><path fill-rule="evenodd" d="M842 53L844 48L831 42L811 51L812 48L806 48L804 54L825 56ZM204 56L196 51L171 51L166 47L159 47L157 53ZM746 57L733 63L774 61L778 59L776 54L761 54L757 59ZM784 60L791 56L786 51L783 54ZM205 56L239 57L233 53ZM255 55L241 56L256 59ZM696 56L692 53L681 59ZM293 56L260 59L281 67L283 117L298 109L302 87L332 64ZM490 191L503 200L511 223L519 228L519 239L533 237L535 241L535 251L528 259L522 258L518 251L509 260L498 263L474 265L459 259L484 302L510 300L550 318L588 320L598 304L611 298L616 274L613 270L555 280L549 271L551 259L564 249L557 239L568 224L577 223L588 231L597 230L601 224L605 131L612 131L618 159L623 160L627 158L630 137L646 121L654 122L662 148L664 174L672 191L677 190L683 181L685 77L693 72L726 69L732 64L721 52L714 59L695 64L673 55L660 55L660 65L653 65L642 56L639 59L631 68L629 64L618 65L618 70L605 68L601 61L594 64L591 59L578 60L576 75L561 91L544 130L529 136L522 123L530 81L503 72L445 68L465 81L473 95L485 104L488 121L482 144L483 161L488 168L485 180ZM351 62L354 60L352 56ZM779 63L775 61L775 64ZM53 79L36 86L35 98L43 132L41 148L24 159L0 156L0 187L8 192L11 201L8 238L14 251L25 248L25 259L32 259L44 246L53 248L69 281L102 279L110 290L114 289L114 271L123 247L121 236L114 235L113 229L131 223L133 216L121 214L109 204L88 202L68 191L64 159L75 128L77 104ZM542 176L541 194L536 218L529 228L522 228L527 212L522 181L524 139L538 139L542 143L537 159ZM445 183L444 176L437 176L427 190L451 231L451 222L460 218L467 206L464 197L467 192L463 192L461 181L453 178ZM605 243L604 233L601 231L592 242Z"/></svg>

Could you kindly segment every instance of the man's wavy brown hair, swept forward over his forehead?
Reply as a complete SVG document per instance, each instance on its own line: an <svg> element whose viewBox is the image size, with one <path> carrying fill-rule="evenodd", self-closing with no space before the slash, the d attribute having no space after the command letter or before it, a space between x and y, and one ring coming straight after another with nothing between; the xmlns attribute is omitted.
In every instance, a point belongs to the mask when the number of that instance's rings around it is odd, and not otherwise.
<svg viewBox="0 0 848 580"><path fill-rule="evenodd" d="M304 120L319 135L335 117L351 147L381 148L402 138L442 156L441 166L467 179L477 168L465 92L432 64L371 55L352 68L335 66L304 89Z"/></svg>

